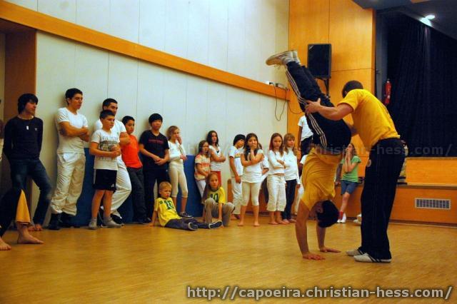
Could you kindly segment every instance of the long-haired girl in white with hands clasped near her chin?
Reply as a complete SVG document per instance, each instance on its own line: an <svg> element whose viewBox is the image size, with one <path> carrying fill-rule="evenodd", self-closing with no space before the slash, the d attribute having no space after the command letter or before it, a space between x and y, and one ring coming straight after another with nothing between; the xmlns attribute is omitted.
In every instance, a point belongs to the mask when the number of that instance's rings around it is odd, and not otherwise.
<svg viewBox="0 0 457 304"><path fill-rule="evenodd" d="M252 211L254 213L254 227L260 226L258 223L258 192L262 181L262 160L263 151L259 148L256 134L248 133L244 142L244 153L241 155L241 164L244 167L243 177L241 178L243 205L241 206L238 226L244 225L244 215L246 214L249 196L251 196Z"/></svg>

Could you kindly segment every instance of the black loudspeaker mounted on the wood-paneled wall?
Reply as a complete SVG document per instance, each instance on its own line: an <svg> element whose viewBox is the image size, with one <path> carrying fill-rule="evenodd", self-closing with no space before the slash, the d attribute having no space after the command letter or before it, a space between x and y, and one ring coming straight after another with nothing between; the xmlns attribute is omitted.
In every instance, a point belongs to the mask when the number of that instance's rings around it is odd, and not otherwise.
<svg viewBox="0 0 457 304"><path fill-rule="evenodd" d="M316 78L330 78L331 44L308 44L308 69Z"/></svg>

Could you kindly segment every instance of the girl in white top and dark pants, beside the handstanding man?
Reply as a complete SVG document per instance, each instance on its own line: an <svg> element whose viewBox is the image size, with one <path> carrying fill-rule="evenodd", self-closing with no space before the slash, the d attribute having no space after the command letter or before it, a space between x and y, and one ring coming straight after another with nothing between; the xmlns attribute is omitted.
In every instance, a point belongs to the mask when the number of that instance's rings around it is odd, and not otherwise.
<svg viewBox="0 0 457 304"><path fill-rule="evenodd" d="M292 133L284 135L284 146L284 162L286 163L286 170L284 171L284 178L286 179L286 208L282 216L283 221L295 223L295 220L292 218L291 208L295 200L295 190L296 188L300 188L301 182L298 176L295 136Z"/></svg>

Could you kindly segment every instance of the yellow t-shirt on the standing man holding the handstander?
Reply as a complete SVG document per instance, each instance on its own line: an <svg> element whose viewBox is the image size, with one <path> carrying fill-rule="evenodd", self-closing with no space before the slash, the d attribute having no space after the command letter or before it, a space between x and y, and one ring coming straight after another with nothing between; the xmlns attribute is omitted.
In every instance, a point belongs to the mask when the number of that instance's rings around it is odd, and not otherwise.
<svg viewBox="0 0 457 304"><path fill-rule="evenodd" d="M381 139L400 138L386 106L369 91L351 90L340 103L353 108L354 127L368 151Z"/></svg>

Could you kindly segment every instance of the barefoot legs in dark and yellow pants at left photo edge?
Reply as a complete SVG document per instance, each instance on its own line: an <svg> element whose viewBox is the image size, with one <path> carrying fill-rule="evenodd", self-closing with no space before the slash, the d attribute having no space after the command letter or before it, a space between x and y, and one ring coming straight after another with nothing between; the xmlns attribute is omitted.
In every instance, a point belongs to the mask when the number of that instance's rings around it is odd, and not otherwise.
<svg viewBox="0 0 457 304"><path fill-rule="evenodd" d="M43 241L34 238L27 230L30 225L29 208L27 207L26 196L21 188L11 188L1 198L0 202L0 251L11 250L11 246L1 239L8 230L11 220L15 219L18 244L42 244Z"/></svg>

